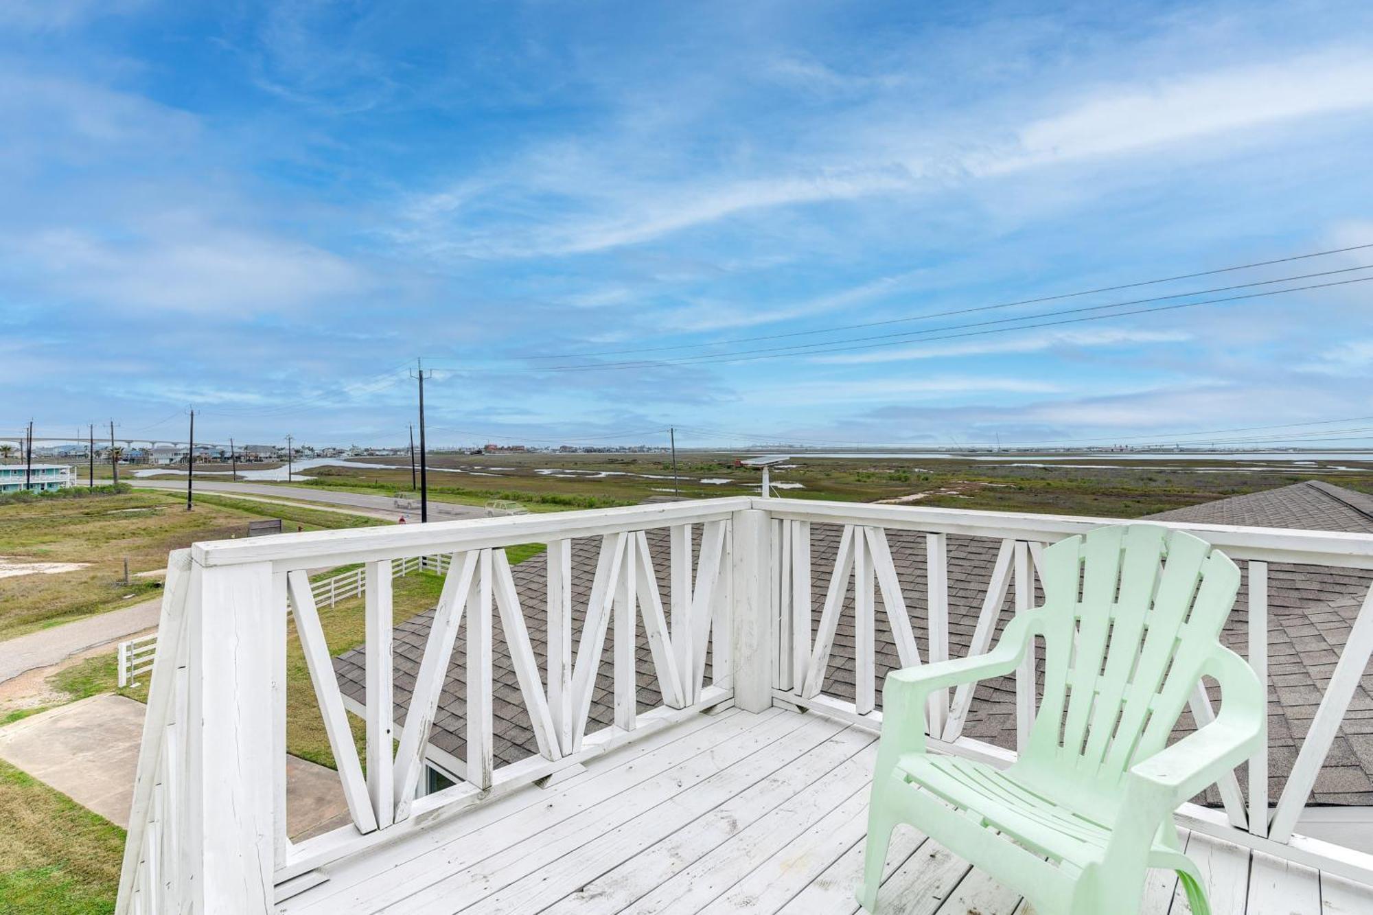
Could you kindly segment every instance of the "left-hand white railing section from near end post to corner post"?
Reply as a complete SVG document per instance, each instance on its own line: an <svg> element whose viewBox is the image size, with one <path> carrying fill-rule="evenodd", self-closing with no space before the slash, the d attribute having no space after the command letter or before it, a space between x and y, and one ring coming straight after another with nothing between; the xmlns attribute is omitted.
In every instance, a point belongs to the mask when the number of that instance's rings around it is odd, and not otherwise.
<svg viewBox="0 0 1373 915"><path fill-rule="evenodd" d="M667 529L651 555L647 530ZM573 606L573 540L599 539L585 606ZM504 547L548 544L548 662L540 669ZM697 543L693 550L693 543ZM740 550L744 544L746 550ZM759 550L761 547L761 550ZM408 556L453 556L404 723L393 720L391 576ZM364 563L367 752L358 758L308 570ZM670 565L670 615L655 566ZM748 499L283 534L173 555L129 820L119 912L268 911L310 871L460 815L637 736L741 699L766 709L765 676L735 683L732 658L766 670L766 517ZM287 614L295 622L351 823L286 834ZM751 611L748 607L755 607ZM584 617L574 644L574 610ZM500 614L538 754L493 754L493 613ZM669 622L670 621L670 622ZM614 625L614 724L589 710ZM636 702L636 633L663 702ZM465 779L417 795L430 728L465 631ZM711 676L706 679L710 654ZM546 679L545 679L546 675ZM743 692L740 692L740 690ZM393 752L393 747L398 747Z"/></svg>

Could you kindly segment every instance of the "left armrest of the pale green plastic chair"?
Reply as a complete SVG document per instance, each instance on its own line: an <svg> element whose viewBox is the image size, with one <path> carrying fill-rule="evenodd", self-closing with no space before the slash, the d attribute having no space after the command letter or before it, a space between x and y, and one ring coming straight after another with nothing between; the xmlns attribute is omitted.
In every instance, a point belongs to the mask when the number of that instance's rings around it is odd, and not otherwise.
<svg viewBox="0 0 1373 915"><path fill-rule="evenodd" d="M881 688L879 767L883 760L894 764L895 757L902 753L924 752L925 699L931 692L1011 673L1024 658L1031 635L1030 614L1019 614L1006 624L997 647L987 654L923 664L888 673Z"/></svg>

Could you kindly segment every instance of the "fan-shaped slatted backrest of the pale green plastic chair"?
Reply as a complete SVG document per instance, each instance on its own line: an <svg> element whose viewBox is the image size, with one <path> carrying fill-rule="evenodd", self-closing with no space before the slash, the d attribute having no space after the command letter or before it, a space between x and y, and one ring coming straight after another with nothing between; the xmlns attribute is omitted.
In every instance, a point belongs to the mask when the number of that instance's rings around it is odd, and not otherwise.
<svg viewBox="0 0 1373 915"><path fill-rule="evenodd" d="M1049 547L1041 576L1045 687L1027 762L1115 782L1167 742L1219 646L1238 569L1190 534L1127 525Z"/></svg>

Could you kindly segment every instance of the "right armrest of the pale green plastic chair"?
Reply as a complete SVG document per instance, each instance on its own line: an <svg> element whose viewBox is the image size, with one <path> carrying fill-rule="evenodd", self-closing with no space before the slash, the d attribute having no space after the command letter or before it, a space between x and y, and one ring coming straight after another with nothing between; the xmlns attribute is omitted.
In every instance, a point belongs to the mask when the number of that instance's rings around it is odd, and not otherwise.
<svg viewBox="0 0 1373 915"><path fill-rule="evenodd" d="M1148 783L1175 808L1254 756L1267 734L1263 686L1244 659L1229 648L1203 666L1221 684L1221 713L1173 746L1130 768L1129 778ZM1142 787L1142 786L1141 786Z"/></svg>

